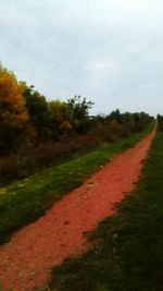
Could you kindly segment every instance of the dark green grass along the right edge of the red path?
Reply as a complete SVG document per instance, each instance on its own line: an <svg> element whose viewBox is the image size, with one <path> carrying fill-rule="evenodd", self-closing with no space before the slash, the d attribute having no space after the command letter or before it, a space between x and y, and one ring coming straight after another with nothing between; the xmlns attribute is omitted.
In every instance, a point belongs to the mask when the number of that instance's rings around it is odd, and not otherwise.
<svg viewBox="0 0 163 291"><path fill-rule="evenodd" d="M135 193L91 234L96 245L53 268L49 290L163 290L163 133L158 133ZM55 288L55 289L53 289Z"/></svg>

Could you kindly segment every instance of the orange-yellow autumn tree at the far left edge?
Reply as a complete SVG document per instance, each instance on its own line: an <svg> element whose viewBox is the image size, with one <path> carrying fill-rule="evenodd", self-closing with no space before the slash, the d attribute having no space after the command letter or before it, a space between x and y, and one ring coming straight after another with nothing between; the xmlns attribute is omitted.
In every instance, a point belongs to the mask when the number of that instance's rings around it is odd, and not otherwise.
<svg viewBox="0 0 163 291"><path fill-rule="evenodd" d="M18 146L18 138L28 121L23 86L16 76L0 64L0 151Z"/></svg>

